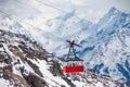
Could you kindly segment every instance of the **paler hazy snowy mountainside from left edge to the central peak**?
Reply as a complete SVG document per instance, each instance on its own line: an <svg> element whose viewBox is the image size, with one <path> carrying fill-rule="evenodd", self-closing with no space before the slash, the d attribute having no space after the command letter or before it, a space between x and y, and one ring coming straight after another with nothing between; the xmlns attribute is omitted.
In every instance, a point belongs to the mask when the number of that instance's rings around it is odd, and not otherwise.
<svg viewBox="0 0 130 87"><path fill-rule="evenodd" d="M86 20L80 20L74 14L75 10L70 13L65 13L49 20L46 25L42 25L42 28L40 26L35 26L37 20L18 20L15 16L2 14L0 17L0 26L6 30L24 34L29 39L37 40L38 44L48 51L56 52L57 55L62 55L67 53L66 39L75 39L79 42L96 32L95 24ZM60 50L63 51L61 52Z"/></svg>

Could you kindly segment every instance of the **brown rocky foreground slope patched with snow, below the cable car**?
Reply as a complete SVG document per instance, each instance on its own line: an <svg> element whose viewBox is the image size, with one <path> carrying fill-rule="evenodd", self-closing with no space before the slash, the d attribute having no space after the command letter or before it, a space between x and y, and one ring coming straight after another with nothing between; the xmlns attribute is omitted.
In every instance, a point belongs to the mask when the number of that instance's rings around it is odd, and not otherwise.
<svg viewBox="0 0 130 87"><path fill-rule="evenodd" d="M0 30L0 86L2 87L121 87L93 71L64 74L62 61L30 41L25 35Z"/></svg>

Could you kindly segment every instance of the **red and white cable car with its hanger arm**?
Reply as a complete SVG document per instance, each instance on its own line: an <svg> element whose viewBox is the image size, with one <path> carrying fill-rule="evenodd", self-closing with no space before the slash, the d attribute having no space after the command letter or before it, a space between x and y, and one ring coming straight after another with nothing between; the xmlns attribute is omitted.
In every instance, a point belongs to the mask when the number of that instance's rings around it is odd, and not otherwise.
<svg viewBox="0 0 130 87"><path fill-rule="evenodd" d="M78 46L77 44L75 44L75 41L69 41L67 40L67 42L70 44L69 47L69 51L67 54L67 58L64 62L64 67L63 67L63 72L64 73L78 73L78 72L83 72L84 71L84 66L83 66L83 60L79 59L74 50L74 46Z"/></svg>

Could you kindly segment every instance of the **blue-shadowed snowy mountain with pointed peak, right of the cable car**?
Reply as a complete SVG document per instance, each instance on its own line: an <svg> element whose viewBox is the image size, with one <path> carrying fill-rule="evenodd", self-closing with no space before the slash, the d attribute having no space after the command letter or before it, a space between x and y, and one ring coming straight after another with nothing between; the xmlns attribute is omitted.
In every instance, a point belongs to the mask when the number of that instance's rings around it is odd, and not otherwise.
<svg viewBox="0 0 130 87"><path fill-rule="evenodd" d="M130 83L130 14L113 8L96 29L94 37L80 42L87 69Z"/></svg>

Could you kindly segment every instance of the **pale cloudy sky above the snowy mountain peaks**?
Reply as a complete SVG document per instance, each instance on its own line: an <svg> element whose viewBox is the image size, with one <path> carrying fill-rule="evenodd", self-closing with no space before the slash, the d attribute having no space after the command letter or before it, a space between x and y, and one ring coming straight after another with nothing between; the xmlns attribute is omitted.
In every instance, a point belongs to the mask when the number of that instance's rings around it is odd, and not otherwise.
<svg viewBox="0 0 130 87"><path fill-rule="evenodd" d="M98 22L112 7L130 13L130 0L0 0L0 10L22 18L52 18L64 13L42 2L66 12L76 9L76 15L91 22Z"/></svg>

